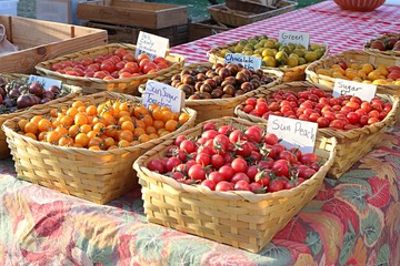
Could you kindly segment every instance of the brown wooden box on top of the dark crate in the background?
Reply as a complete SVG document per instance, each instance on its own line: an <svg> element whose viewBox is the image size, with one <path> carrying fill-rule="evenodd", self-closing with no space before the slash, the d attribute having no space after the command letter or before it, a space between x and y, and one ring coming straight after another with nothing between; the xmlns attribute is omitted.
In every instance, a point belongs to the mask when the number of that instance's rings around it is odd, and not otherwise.
<svg viewBox="0 0 400 266"><path fill-rule="evenodd" d="M111 24L163 29L188 23L186 6L131 2L127 0L96 0L78 3L77 17Z"/></svg>

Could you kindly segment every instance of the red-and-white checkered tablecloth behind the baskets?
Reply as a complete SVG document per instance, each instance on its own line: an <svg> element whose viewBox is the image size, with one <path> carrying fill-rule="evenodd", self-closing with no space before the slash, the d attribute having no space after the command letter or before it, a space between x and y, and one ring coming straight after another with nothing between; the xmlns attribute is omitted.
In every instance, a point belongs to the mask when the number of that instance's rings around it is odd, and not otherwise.
<svg viewBox="0 0 400 266"><path fill-rule="evenodd" d="M230 31L171 48L187 57L188 63L207 62L207 51L241 38L266 34L278 38L280 30L308 32L311 42L329 45L330 54L350 49L362 50L372 37L400 31L400 9L382 6L372 12L341 10L324 1Z"/></svg>

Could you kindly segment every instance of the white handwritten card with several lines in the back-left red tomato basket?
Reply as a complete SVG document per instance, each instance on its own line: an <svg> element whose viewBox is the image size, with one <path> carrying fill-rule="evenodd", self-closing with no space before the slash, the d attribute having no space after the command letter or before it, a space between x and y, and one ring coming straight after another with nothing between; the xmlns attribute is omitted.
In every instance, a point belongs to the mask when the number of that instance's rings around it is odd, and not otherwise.
<svg viewBox="0 0 400 266"><path fill-rule="evenodd" d="M168 49L169 39L140 31L134 57L138 58L139 54L147 53L152 60L157 57L164 58Z"/></svg>

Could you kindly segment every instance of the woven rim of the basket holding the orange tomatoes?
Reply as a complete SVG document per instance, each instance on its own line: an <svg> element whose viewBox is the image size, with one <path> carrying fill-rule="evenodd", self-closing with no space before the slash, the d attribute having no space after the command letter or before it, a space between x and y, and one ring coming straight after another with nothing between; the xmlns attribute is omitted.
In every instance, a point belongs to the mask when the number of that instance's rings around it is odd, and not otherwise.
<svg viewBox="0 0 400 266"><path fill-rule="evenodd" d="M77 98L76 100L84 100L84 99L87 99L87 96L104 96L104 99L108 99L107 96L114 98L114 99L120 99L122 96L129 96L130 100L132 100L132 101L138 101L138 102L140 101L140 99L137 98L137 96L132 96L132 95L129 95L129 94L117 93L117 92L111 92L111 91L103 91L103 92L98 92L98 93L93 93L93 94L90 94L90 95L82 95L80 98ZM69 102L70 101L61 102L60 104L69 104ZM51 108L51 106L47 106L47 108ZM47 109L26 110L26 111L19 113L18 116L14 116L12 119L7 120L1 125L1 129L4 131L6 134L9 133L13 137L22 137L27 143L29 143L29 144L31 144L33 146L42 145L42 146L47 147L48 150L73 151L73 152L81 153L83 155L90 155L90 154L96 154L96 155L123 154L123 153L127 153L127 152L132 152L132 151L134 151L137 149L146 149L148 146L153 146L154 143L158 143L158 142L163 141L163 140L168 140L176 133L176 131L174 131L174 132L171 132L169 134L166 134L164 136L151 140L149 142L140 143L140 144L137 144L134 146L118 147L118 149L110 150L110 151L92 151L92 150L89 150L89 149L66 147L66 146L53 145L53 144L47 143L47 142L36 141L36 140L32 140L29 136L18 134L14 130L12 130L10 127L11 124L13 124L13 125L16 124L14 122L17 120L20 120L20 119L26 117L26 116L27 117L28 116L33 116L37 113L40 113L40 114L41 113L47 113L46 111L48 111L48 110ZM190 119L186 123L188 123L188 122L191 123L191 122L196 121L197 112L193 109L183 108L181 110L181 112L187 112L187 113L190 114Z"/></svg>

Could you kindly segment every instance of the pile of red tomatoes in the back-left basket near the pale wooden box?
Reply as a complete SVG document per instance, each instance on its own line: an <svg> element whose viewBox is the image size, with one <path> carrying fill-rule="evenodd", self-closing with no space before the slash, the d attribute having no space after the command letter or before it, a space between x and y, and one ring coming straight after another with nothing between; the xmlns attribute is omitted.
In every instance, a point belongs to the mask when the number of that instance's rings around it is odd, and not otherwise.
<svg viewBox="0 0 400 266"><path fill-rule="evenodd" d="M169 63L166 58L157 57L151 60L147 53L134 58L134 54L124 48L118 48L112 53L96 58L58 62L51 65L52 71L61 74L102 80L129 79L156 73L167 68Z"/></svg>

